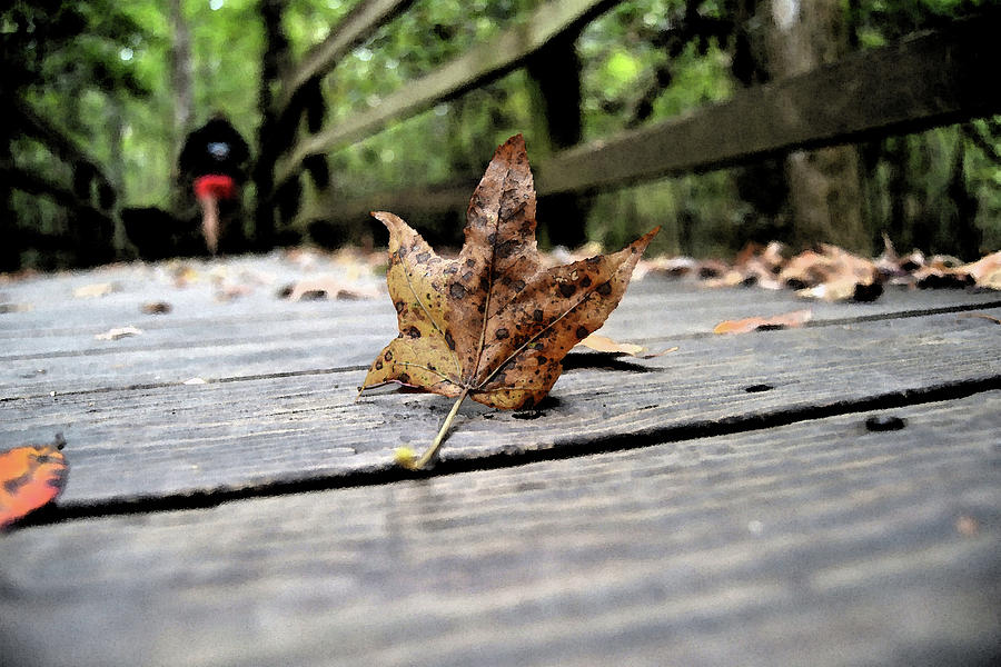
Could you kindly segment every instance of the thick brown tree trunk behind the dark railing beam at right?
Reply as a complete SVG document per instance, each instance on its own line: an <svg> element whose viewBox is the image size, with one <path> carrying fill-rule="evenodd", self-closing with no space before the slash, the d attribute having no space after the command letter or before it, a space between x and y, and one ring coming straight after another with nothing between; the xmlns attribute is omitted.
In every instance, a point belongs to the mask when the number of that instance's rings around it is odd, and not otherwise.
<svg viewBox="0 0 1001 667"><path fill-rule="evenodd" d="M841 0L770 0L764 51L770 78L807 72L841 58L849 47ZM796 151L785 160L793 241L835 242L869 253L872 239L863 225L859 152L854 146Z"/></svg>

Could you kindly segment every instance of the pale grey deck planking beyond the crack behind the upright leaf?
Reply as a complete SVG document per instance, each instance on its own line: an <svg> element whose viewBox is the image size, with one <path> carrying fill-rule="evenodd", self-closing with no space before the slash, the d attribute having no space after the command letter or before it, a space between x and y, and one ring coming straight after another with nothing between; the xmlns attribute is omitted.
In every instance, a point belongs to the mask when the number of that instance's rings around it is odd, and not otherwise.
<svg viewBox="0 0 1001 667"><path fill-rule="evenodd" d="M283 262L262 259L230 260L216 269L231 278L246 275L239 283L252 291L219 301L207 275L177 288L161 266L50 276L6 287L4 302L30 310L0 316L0 398L182 382L195 377L211 380L360 367L396 335L388 298L288 302L276 296L280 286L315 276L316 270L296 272ZM267 282L262 276L269 277ZM118 291L99 299L72 297L76 288L95 282L112 282ZM997 306L999 297L891 291L875 303L812 305L790 292L705 290L650 276L631 286L603 332L660 349L676 345L680 338L706 335L722 320L753 315L811 308L814 321L822 325ZM169 315L140 312L142 303L161 300L172 306ZM136 326L142 335L95 339L123 326Z"/></svg>

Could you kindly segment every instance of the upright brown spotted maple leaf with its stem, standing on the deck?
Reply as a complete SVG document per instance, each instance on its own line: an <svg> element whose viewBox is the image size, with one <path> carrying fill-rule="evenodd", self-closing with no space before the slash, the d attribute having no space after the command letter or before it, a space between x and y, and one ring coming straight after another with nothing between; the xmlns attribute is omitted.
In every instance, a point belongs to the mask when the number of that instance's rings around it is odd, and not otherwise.
<svg viewBox="0 0 1001 667"><path fill-rule="evenodd" d="M613 255L543 268L521 135L497 149L473 192L458 258L435 255L393 213L373 216L389 229L386 279L399 336L373 362L361 390L395 381L458 397L419 460L397 452L410 468L434 458L467 396L494 408L537 405L563 371L563 357L618 305L660 230Z"/></svg>

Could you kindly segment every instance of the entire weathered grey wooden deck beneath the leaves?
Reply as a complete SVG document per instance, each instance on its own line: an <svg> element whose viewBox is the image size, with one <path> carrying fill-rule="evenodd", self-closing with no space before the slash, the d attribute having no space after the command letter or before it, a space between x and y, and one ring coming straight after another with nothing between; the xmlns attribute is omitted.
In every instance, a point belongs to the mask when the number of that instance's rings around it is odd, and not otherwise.
<svg viewBox="0 0 1001 667"><path fill-rule="evenodd" d="M189 266L0 285L0 447L61 431L70 461L0 536L2 665L1001 657L998 292L804 306L648 276L603 332L677 351L574 355L535 411L467 405L415 476L393 449L450 401L355 402L388 298L276 296L323 259Z"/></svg>

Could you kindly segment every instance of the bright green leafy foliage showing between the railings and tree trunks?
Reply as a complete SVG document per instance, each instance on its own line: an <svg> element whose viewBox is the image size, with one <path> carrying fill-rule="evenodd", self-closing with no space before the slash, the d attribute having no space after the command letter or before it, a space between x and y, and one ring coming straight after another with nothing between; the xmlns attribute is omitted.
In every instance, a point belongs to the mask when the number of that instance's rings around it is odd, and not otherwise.
<svg viewBox="0 0 1001 667"><path fill-rule="evenodd" d="M416 0L325 78L326 123L371 109L473 46L523 23L542 1ZM283 29L293 62L357 2L287 0ZM576 40L584 140L664 121L733 94L741 87L734 76L741 66L739 4L632 0L591 22ZM991 4L999 2L846 0L844 7L852 43L872 48ZM225 110L252 140L261 123L260 0L184 0L182 8L191 33L195 120ZM129 206L166 206L170 196L178 141L172 31L162 0L17 1L0 10L4 89L86 147L119 181ZM532 78L517 69L392 123L329 156L335 193L351 197L476 178L493 148L516 132L525 133L533 159L541 159L551 150L541 103ZM18 166L68 178L43 142L8 133L6 146ZM1001 246L999 150L999 123L987 120L863 146L873 237L891 229L901 243L949 249L950 230L972 215L981 250ZM698 255L726 253L755 235L781 233L779 220L749 222L771 213L755 213L754 205L741 198L737 178L739 171L725 170L599 195L588 202L587 233L621 246L638 231L664 225L655 250ZM23 223L47 230L65 223L58 207L32 208L30 201L23 195L11 199ZM454 220L438 223L454 226Z"/></svg>

